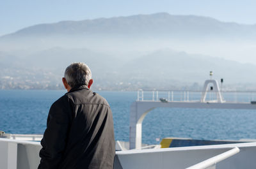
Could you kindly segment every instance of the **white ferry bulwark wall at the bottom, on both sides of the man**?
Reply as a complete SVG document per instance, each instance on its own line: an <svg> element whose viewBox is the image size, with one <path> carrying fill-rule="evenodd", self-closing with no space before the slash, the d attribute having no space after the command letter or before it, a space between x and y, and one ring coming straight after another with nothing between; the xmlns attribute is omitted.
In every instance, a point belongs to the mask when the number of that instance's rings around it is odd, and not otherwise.
<svg viewBox="0 0 256 169"><path fill-rule="evenodd" d="M233 149L239 147L239 149ZM39 151L41 145L38 142L18 141L8 138L0 138L0 168L1 169L35 169L40 163ZM232 149L227 151L227 149ZM227 152L225 152L227 151ZM224 152L224 153L223 153ZM236 158L223 160L234 154ZM220 154L220 155L218 155ZM216 156L217 155L217 156ZM196 147L176 147L166 149L145 149L116 151L114 168L176 168L184 169L205 158L211 159L215 156L213 163L218 163L220 169L255 168L256 143L236 143L226 145L207 145ZM209 161L207 159L207 161ZM221 159L221 160L220 160ZM120 166L120 167L118 167ZM205 165L205 167L207 167Z"/></svg>

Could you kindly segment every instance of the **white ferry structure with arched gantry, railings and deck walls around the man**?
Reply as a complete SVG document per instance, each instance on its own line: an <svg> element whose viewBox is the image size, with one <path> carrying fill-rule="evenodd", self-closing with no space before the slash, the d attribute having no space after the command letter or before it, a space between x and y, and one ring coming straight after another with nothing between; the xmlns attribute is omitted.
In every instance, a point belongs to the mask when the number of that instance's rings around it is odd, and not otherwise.
<svg viewBox="0 0 256 169"><path fill-rule="evenodd" d="M177 93L179 93L178 97L175 95ZM205 81L204 90L201 92L138 91L138 98L131 105L129 143L116 142L114 168L256 168L256 140L255 142L253 140L237 142L213 140L214 145L204 145L200 142L202 144L186 145L186 147L172 147L170 142L173 142L175 138L166 138L162 140L161 145L143 146L141 143L143 119L148 112L157 107L256 110L252 92L250 98L245 101L239 99L241 95L239 92L226 92L227 98L223 97L224 93L218 81L212 79ZM42 135L0 133L0 168L37 168L40 162L38 154L41 149L38 141L41 139ZM183 140L188 142L189 139Z"/></svg>

